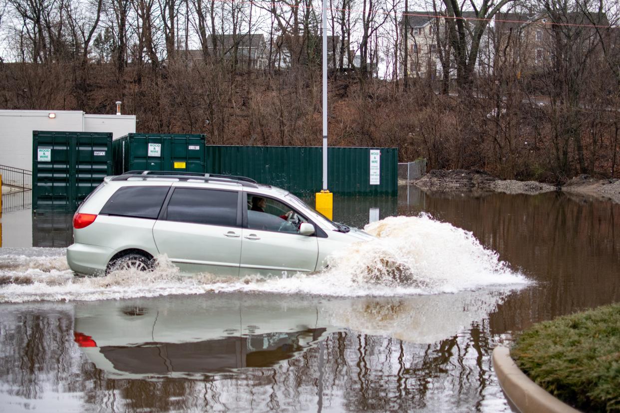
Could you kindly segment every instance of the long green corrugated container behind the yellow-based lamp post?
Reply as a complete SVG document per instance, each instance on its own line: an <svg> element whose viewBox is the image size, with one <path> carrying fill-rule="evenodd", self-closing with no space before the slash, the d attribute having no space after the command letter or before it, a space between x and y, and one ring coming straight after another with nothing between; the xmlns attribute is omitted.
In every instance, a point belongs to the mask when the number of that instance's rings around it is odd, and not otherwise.
<svg viewBox="0 0 620 413"><path fill-rule="evenodd" d="M322 148L205 146L206 173L253 178L299 195L321 191ZM329 147L327 186L335 194L396 196L398 149Z"/></svg>

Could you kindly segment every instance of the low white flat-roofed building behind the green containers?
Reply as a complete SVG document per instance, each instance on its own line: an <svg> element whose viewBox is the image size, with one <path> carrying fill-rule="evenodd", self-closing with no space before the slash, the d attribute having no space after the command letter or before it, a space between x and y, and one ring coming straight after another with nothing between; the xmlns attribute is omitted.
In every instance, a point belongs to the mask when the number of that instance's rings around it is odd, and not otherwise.
<svg viewBox="0 0 620 413"><path fill-rule="evenodd" d="M136 131L135 115L89 115L79 110L0 110L0 165L32 170L32 131Z"/></svg>

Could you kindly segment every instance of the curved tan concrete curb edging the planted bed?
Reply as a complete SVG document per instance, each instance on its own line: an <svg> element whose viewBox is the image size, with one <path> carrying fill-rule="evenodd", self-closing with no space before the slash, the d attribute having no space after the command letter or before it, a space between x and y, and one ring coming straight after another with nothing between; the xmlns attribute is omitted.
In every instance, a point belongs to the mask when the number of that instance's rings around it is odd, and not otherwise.
<svg viewBox="0 0 620 413"><path fill-rule="evenodd" d="M495 347L492 360L497 380L508 399L520 412L579 413L578 410L547 393L521 372L511 359L507 347Z"/></svg>

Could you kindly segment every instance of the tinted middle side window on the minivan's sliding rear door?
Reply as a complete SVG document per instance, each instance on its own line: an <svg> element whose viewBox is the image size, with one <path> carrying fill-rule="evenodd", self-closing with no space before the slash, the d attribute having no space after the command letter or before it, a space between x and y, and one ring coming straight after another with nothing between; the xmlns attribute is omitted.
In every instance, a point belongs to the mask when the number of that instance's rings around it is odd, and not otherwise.
<svg viewBox="0 0 620 413"><path fill-rule="evenodd" d="M236 227L238 199L237 191L175 188L166 220Z"/></svg>

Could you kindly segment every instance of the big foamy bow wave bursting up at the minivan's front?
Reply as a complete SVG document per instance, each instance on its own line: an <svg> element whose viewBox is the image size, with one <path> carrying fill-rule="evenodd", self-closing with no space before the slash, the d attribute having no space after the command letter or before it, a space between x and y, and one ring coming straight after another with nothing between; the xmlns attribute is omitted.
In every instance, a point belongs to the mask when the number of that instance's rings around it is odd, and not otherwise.
<svg viewBox="0 0 620 413"><path fill-rule="evenodd" d="M487 285L521 283L495 251L471 232L428 214L388 217L366 225L379 238L330 257L330 274L358 284L405 288L409 292L457 292Z"/></svg>

